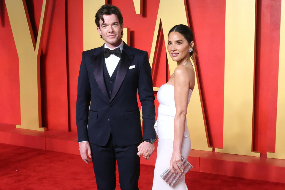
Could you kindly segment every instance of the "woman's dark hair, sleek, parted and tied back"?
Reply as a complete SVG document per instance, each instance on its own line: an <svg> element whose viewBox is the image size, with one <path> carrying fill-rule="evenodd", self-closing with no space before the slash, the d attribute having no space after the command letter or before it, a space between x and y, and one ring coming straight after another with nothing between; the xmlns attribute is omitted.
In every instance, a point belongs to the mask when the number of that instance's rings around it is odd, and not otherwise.
<svg viewBox="0 0 285 190"><path fill-rule="evenodd" d="M189 26L186 26L184 24L178 24L178 25L175 25L172 27L172 29L170 29L170 31L168 32L168 35L171 33L171 32L179 32L180 34L182 34L184 36L184 38L187 40L187 42L190 44L193 39L194 39L194 36L193 36L193 32L192 30L189 28ZM194 55L197 55L196 52L195 52L195 45L193 47L193 51L190 52L190 57L193 59L193 56Z"/></svg>

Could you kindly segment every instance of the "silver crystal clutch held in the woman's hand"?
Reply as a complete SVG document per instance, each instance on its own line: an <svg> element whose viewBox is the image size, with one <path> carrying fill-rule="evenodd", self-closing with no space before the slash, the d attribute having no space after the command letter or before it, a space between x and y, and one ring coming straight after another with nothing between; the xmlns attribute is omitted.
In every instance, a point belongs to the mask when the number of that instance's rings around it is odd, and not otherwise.
<svg viewBox="0 0 285 190"><path fill-rule="evenodd" d="M181 156L182 163L184 166L182 175L180 175L174 168L175 174L170 171L170 168L167 168L160 177L170 186L174 186L177 181L179 181L191 168L193 167L183 156ZM182 165L181 163L181 165Z"/></svg>

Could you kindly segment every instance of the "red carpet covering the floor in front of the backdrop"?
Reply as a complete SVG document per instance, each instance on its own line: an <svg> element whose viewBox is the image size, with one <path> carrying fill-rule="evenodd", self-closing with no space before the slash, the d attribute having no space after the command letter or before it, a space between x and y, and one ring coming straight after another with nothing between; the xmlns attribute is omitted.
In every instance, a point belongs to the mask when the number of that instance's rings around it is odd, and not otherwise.
<svg viewBox="0 0 285 190"><path fill-rule="evenodd" d="M140 190L149 190L153 166L141 164ZM118 176L118 173L117 173ZM285 189L284 183L190 171L190 189ZM96 189L91 164L80 156L0 143L0 189ZM117 178L117 188L119 188Z"/></svg>

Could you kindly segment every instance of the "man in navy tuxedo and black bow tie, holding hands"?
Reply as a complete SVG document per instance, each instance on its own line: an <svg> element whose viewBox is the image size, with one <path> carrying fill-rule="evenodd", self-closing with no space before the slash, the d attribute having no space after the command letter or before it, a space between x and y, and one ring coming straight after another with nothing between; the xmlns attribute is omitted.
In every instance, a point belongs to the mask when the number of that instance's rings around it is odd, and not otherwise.
<svg viewBox="0 0 285 190"><path fill-rule="evenodd" d="M118 7L103 5L96 13L105 44L82 53L78 76L76 124L80 154L93 161L97 189L115 189L118 163L121 189L138 189L138 145L149 159L156 140L154 95L148 53L122 41ZM137 90L143 110L143 135ZM90 109L89 109L90 105ZM87 128L88 125L88 128ZM140 155L140 153L138 153Z"/></svg>

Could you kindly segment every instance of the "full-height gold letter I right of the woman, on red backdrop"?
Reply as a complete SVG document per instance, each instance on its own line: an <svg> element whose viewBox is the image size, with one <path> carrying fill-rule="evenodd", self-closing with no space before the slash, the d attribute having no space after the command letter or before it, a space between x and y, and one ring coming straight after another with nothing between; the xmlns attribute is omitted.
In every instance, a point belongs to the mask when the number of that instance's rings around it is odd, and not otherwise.
<svg viewBox="0 0 285 190"><path fill-rule="evenodd" d="M216 152L260 156L252 152L255 0L226 0L224 137Z"/></svg>

